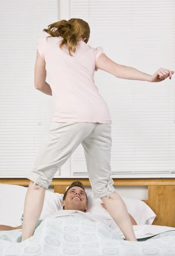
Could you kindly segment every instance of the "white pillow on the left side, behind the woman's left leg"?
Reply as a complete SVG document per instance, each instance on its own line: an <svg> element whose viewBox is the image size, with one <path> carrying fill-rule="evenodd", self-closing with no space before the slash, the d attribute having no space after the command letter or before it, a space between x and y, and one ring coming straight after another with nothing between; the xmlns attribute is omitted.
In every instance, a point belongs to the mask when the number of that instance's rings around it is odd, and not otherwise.
<svg viewBox="0 0 175 256"><path fill-rule="evenodd" d="M0 225L20 226L27 188L24 186L0 184ZM46 190L43 210L40 218L62 208L63 194Z"/></svg>

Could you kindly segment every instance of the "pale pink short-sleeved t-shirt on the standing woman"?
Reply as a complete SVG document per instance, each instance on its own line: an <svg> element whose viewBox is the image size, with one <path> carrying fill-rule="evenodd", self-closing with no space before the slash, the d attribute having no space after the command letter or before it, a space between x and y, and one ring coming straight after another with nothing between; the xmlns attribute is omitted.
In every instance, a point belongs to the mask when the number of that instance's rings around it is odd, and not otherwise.
<svg viewBox="0 0 175 256"><path fill-rule="evenodd" d="M55 101L54 122L111 123L109 108L94 82L95 62L102 47L93 48L80 41L69 55L62 37L38 40L37 49L46 62L47 78Z"/></svg>

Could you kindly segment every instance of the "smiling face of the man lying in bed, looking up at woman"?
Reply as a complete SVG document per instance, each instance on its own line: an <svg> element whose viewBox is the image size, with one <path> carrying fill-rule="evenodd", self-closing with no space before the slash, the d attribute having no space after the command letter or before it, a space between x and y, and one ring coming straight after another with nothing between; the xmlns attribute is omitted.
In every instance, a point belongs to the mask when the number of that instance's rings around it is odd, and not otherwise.
<svg viewBox="0 0 175 256"><path fill-rule="evenodd" d="M86 192L79 186L74 186L67 192L65 200L62 202L65 210L86 211Z"/></svg>

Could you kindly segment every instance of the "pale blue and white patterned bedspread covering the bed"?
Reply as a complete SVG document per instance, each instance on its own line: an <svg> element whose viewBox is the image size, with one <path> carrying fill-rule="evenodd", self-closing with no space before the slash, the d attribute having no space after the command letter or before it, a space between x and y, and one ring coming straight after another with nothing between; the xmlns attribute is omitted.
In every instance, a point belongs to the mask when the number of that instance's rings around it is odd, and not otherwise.
<svg viewBox="0 0 175 256"><path fill-rule="evenodd" d="M26 241L22 230L0 232L0 256L174 256L175 231L146 241L120 238L105 224L79 216L43 220Z"/></svg>

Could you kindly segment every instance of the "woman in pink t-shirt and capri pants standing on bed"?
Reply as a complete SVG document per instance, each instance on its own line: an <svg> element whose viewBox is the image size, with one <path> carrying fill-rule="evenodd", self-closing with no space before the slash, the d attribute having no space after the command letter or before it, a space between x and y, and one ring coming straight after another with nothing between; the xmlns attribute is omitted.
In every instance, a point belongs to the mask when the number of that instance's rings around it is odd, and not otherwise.
<svg viewBox="0 0 175 256"><path fill-rule="evenodd" d="M81 143L94 197L101 198L126 240L137 241L126 206L112 186L111 118L94 83L94 71L100 69L118 78L149 82L171 79L174 72L161 68L151 76L115 63L102 47L87 44L90 28L81 19L61 20L43 31L47 34L38 41L34 86L53 96L55 113L34 169L27 176L31 182L25 200L22 240L33 235L46 189L58 168ZM46 83L46 74L50 84Z"/></svg>

